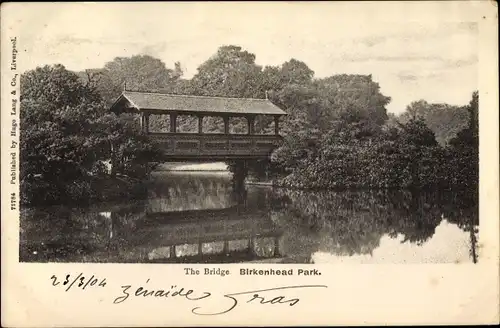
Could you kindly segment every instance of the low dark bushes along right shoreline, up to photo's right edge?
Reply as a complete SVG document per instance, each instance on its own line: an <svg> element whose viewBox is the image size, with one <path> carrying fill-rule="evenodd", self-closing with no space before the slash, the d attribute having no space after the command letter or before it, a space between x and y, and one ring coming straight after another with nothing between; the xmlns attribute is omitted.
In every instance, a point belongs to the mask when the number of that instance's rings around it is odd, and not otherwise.
<svg viewBox="0 0 500 328"><path fill-rule="evenodd" d="M468 106L471 117L477 115L477 93L474 99ZM477 120L470 119L469 124L444 147L421 118L375 127L363 120L343 120L319 138L315 136L314 143L310 137L294 134L296 139L292 139L289 135L291 141L274 154L276 161L290 171L280 184L318 189L475 189ZM303 146L297 147L304 139Z"/></svg>

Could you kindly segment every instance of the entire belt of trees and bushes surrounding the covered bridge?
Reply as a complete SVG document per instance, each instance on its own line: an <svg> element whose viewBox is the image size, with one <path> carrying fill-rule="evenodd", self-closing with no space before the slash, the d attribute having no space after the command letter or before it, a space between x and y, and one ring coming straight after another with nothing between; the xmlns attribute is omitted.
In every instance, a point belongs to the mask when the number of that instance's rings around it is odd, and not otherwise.
<svg viewBox="0 0 500 328"><path fill-rule="evenodd" d="M250 162L254 176L292 188L477 188L478 95L463 107L411 103L388 114L390 97L371 75L315 78L303 62L262 67L238 46L222 46L182 77L151 56L116 58L103 68L73 73L61 65L39 67L21 80L21 178L23 196L93 199L98 177L142 178L158 151L138 130L134 116L107 111L127 90L226 97L268 97L288 115L284 142L268 161ZM197 121L179 117L180 131ZM220 118L205 118L204 131L222 131ZM164 118L152 118L165 130ZM231 122L233 132L246 122ZM272 133L259 117L257 133ZM106 165L107 163L107 165ZM112 165L110 165L112 164ZM233 168L232 163L229 167ZM113 170L109 170L109 166ZM124 188L121 188L126 190ZM37 196L42 195L42 196Z"/></svg>

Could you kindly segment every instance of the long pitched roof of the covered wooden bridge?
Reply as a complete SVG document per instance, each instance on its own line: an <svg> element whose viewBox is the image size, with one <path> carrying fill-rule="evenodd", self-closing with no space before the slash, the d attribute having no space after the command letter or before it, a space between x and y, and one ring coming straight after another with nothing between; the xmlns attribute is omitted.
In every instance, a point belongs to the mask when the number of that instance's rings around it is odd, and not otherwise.
<svg viewBox="0 0 500 328"><path fill-rule="evenodd" d="M225 98L123 91L111 111L124 109L237 115L287 115L268 99Z"/></svg>

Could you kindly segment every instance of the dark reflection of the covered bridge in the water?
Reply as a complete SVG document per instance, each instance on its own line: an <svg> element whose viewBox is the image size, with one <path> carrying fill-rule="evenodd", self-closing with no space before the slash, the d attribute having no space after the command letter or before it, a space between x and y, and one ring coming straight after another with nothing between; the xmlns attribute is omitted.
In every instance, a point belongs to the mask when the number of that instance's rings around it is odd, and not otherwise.
<svg viewBox="0 0 500 328"><path fill-rule="evenodd" d="M150 261L238 262L280 257L282 231L241 206L149 214L135 233Z"/></svg>

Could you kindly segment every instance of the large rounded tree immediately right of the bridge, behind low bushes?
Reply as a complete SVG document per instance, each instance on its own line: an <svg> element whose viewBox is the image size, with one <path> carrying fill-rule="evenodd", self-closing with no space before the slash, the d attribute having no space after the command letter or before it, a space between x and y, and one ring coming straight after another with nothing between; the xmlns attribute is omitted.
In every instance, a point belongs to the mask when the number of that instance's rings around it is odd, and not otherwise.
<svg viewBox="0 0 500 328"><path fill-rule="evenodd" d="M288 170L312 169L325 156L351 154L345 146L365 139L370 142L387 118L385 106L390 98L380 94L371 76L335 75L317 80L311 76L295 79L302 84L285 85L272 94L289 114L283 124L285 143L273 160Z"/></svg>

